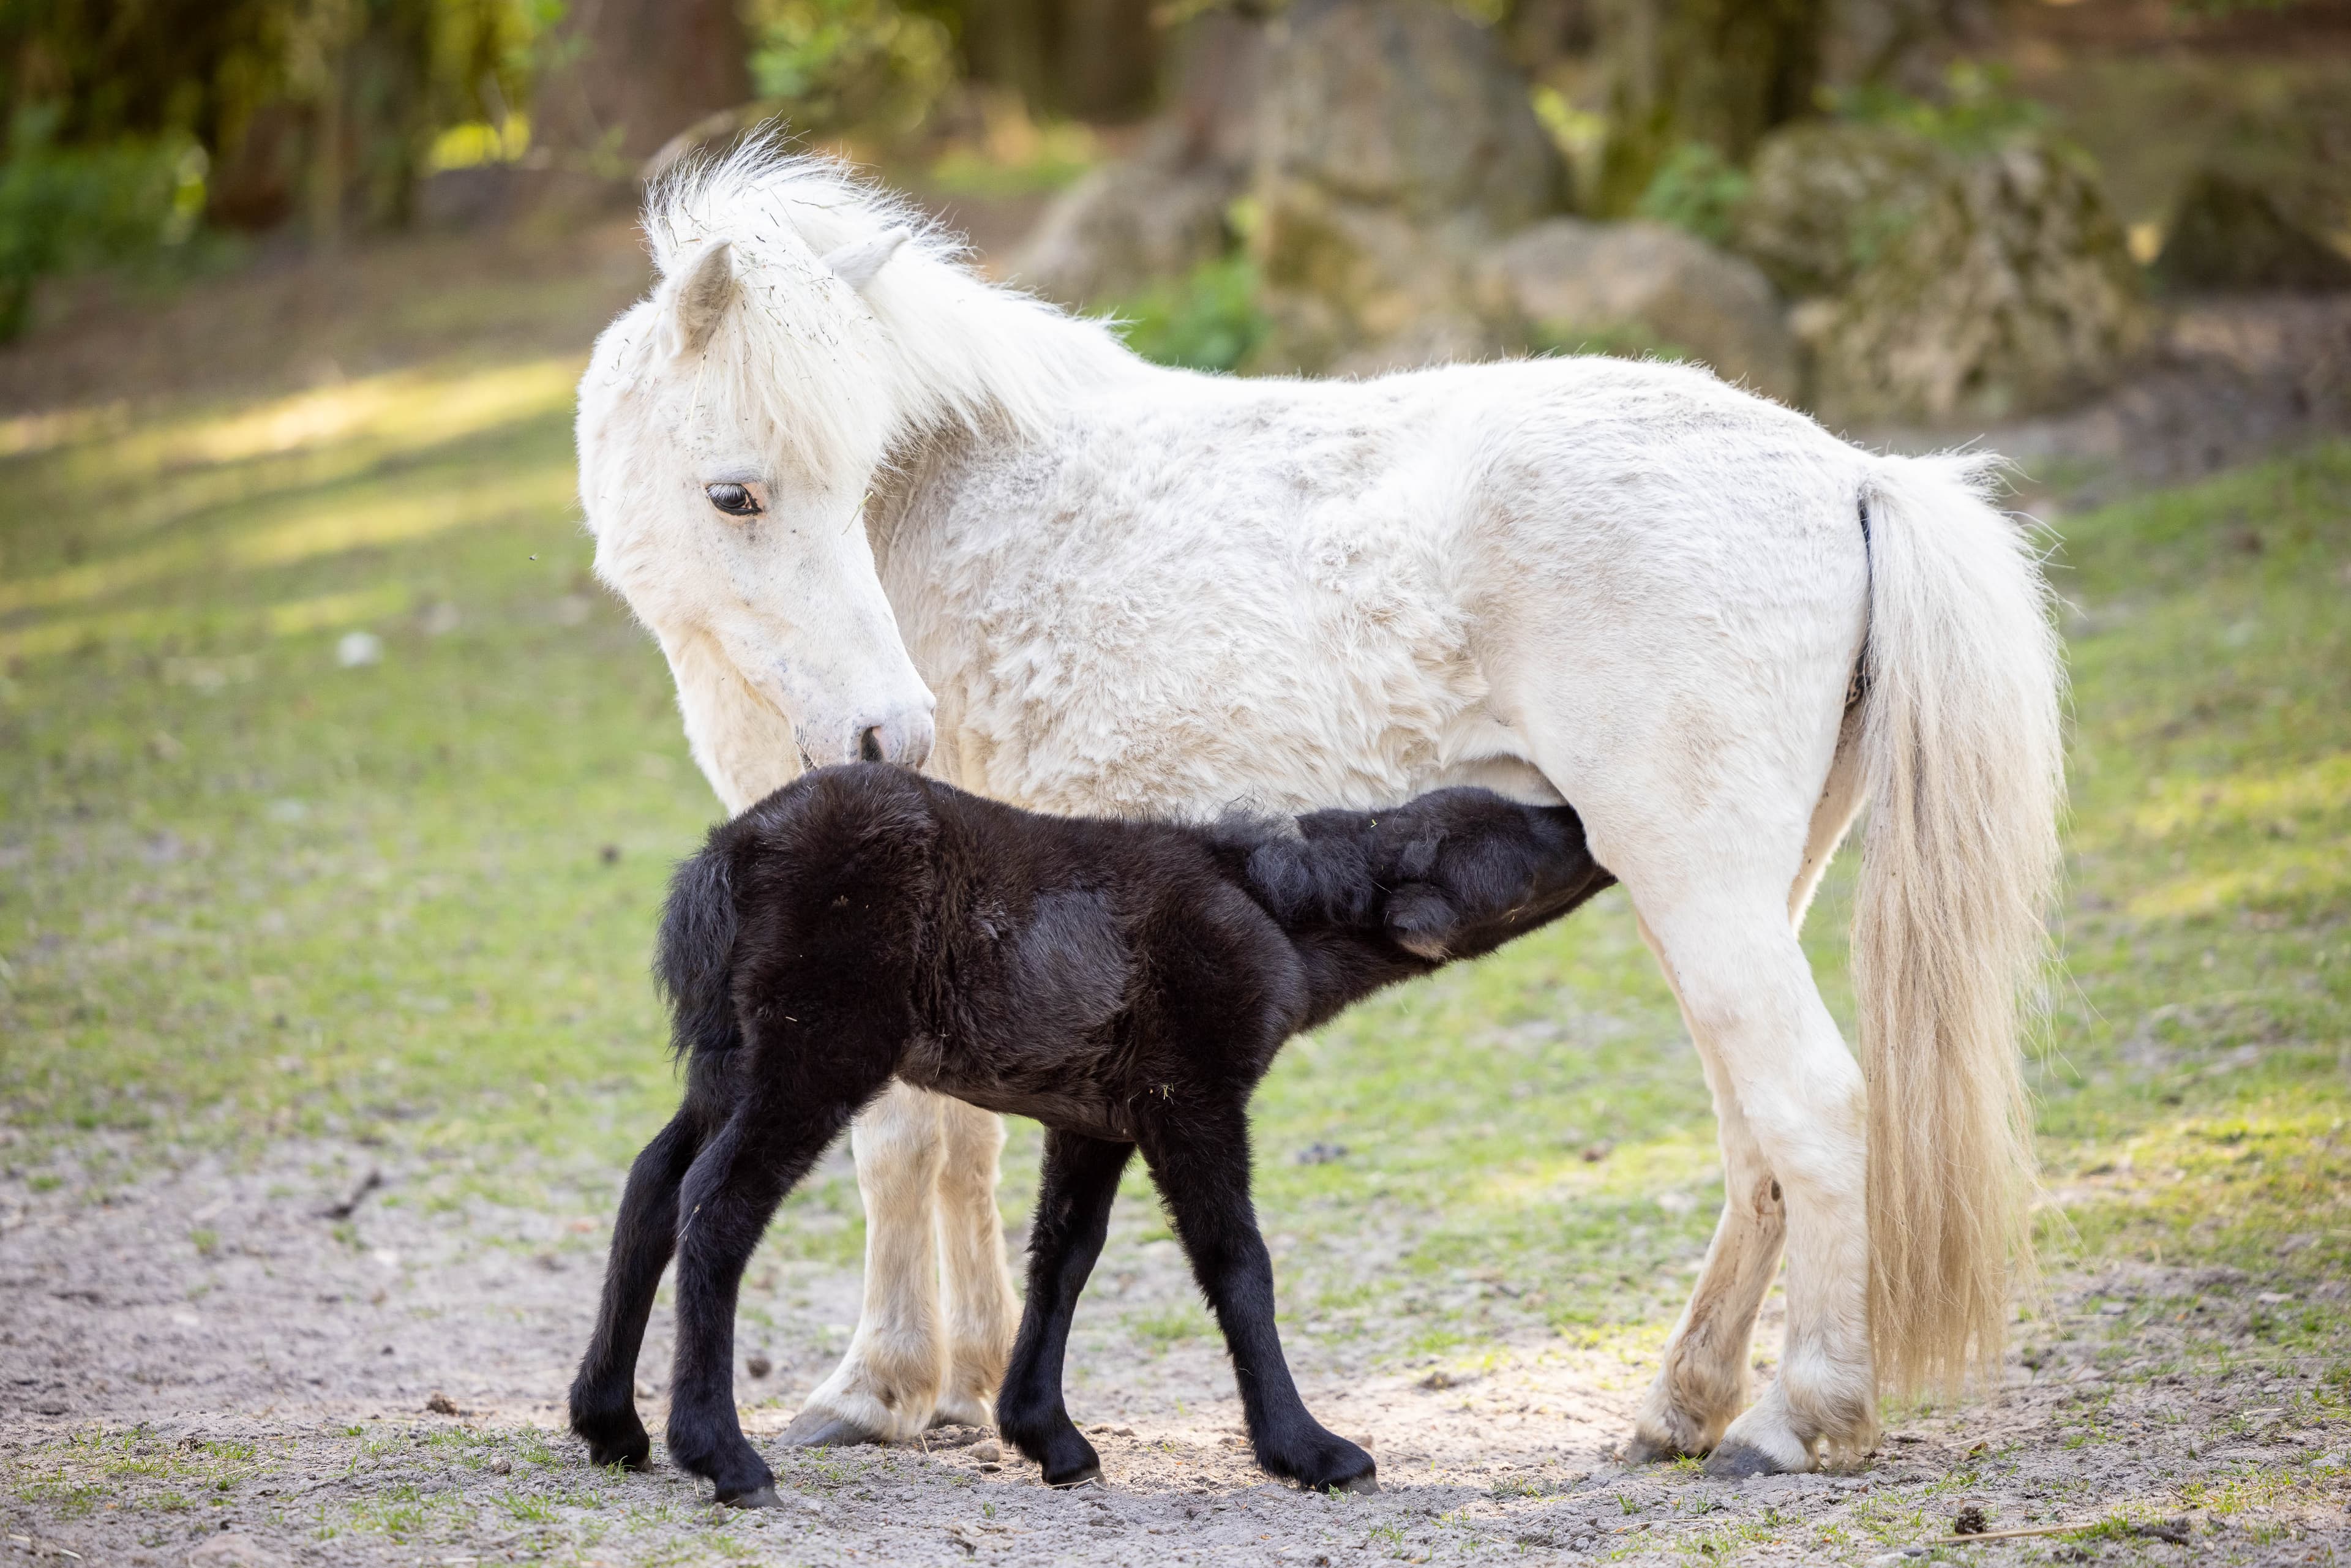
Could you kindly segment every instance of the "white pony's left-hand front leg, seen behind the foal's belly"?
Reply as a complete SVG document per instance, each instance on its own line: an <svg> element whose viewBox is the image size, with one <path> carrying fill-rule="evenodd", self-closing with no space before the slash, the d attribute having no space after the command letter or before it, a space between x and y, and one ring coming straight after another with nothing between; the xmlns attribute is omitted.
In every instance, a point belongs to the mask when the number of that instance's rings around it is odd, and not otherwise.
<svg viewBox="0 0 2351 1568"><path fill-rule="evenodd" d="M900 1443L931 1425L947 1366L938 1331L945 1105L893 1081L849 1128L865 1199L865 1302L849 1354L783 1429L790 1446Z"/></svg>

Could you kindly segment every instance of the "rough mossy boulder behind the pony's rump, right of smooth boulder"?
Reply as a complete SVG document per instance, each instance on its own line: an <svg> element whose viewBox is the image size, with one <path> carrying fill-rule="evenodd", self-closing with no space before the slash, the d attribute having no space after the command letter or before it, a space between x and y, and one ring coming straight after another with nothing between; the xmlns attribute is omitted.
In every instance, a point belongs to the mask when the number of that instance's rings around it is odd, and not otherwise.
<svg viewBox="0 0 2351 1568"><path fill-rule="evenodd" d="M2151 317L2090 172L2024 132L1951 148L1803 125L1756 150L1735 244L1789 294L1831 421L1982 421L2111 386Z"/></svg>

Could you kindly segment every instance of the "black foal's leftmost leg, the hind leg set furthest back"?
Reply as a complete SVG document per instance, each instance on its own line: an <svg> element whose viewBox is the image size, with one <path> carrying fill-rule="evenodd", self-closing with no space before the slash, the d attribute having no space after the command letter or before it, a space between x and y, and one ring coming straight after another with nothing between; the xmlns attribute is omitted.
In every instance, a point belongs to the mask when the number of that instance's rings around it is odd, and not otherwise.
<svg viewBox="0 0 2351 1568"><path fill-rule="evenodd" d="M644 1347L644 1321L654 1312L661 1269L670 1267L670 1251L677 1246L677 1182L698 1147L701 1121L694 1110L682 1110L628 1168L621 1215L611 1227L611 1258L604 1265L604 1305L578 1378L571 1380L571 1429L588 1439L588 1458L597 1465L644 1469L654 1448L632 1399L637 1352Z"/></svg>

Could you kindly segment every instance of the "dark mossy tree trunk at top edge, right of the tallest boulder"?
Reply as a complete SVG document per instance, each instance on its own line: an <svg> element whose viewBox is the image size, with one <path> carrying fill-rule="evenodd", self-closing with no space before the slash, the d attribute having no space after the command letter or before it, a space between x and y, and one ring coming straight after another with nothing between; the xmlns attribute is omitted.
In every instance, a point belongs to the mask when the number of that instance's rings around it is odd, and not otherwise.
<svg viewBox="0 0 2351 1568"><path fill-rule="evenodd" d="M1813 110L1829 0L1603 0L1608 141L1592 209L1634 209L1674 148L1744 162L1763 132Z"/></svg>

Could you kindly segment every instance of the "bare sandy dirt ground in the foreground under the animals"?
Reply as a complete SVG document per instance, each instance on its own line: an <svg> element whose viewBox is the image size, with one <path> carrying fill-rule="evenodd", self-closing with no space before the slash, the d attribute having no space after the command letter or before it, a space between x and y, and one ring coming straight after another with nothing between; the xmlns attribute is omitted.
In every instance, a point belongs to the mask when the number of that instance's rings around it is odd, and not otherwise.
<svg viewBox="0 0 2351 1568"><path fill-rule="evenodd" d="M614 1476L562 1432L607 1237L585 1213L595 1175L552 1173L583 1192L562 1213L484 1204L426 1168L310 1145L113 1190L33 1192L9 1171L0 1544L336 1566L2351 1561L2351 1420L2318 1363L2243 1354L2248 1319L2278 1302L2226 1269L2062 1281L2057 1319L1996 1396L1897 1418L1857 1474L1747 1483L1613 1462L1646 1347L1526 1340L1481 1366L1373 1375L1293 1328L1307 1401L1380 1460L1382 1493L1340 1500L1253 1469L1211 1340L1159 1354L1081 1312L1070 1403L1103 1486L1049 1490L987 1434L940 1429L900 1448L764 1443L788 1509L734 1514L658 1465L658 1446L651 1474ZM336 1220L369 1171L383 1185ZM1098 1279L1121 1305L1173 1305L1190 1291L1180 1260L1138 1244L1140 1222L1124 1215ZM755 1441L823 1375L858 1286L853 1269L762 1265L741 1352L773 1368L738 1380ZM663 1307L639 1371L656 1432L665 1331ZM2102 1530L1921 1544L1968 1507L1991 1530Z"/></svg>

